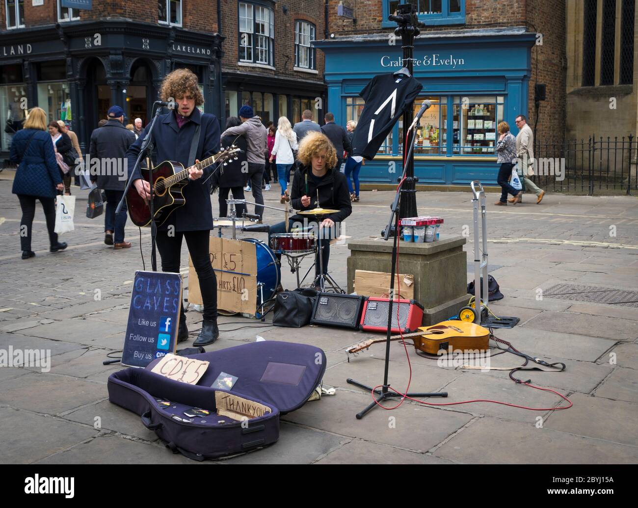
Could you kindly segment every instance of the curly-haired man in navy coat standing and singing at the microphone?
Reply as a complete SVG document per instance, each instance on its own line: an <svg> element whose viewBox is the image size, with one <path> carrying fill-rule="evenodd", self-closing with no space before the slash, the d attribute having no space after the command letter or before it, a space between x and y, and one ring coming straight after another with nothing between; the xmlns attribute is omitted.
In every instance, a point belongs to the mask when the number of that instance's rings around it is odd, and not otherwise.
<svg viewBox="0 0 638 508"><path fill-rule="evenodd" d="M214 115L202 114L196 107L204 103L204 96L198 87L197 76L188 69L177 69L168 74L161 84L159 95L163 101L175 98L177 108L158 117L152 133L154 150L151 160L153 165L161 161L181 163L187 168L180 173L181 178L188 177L188 183L181 189L184 204L176 207L161 225L158 225L156 241L162 271L179 273L182 238L186 238L204 303L202 331L193 345L203 346L213 343L219 337L217 280L209 257L212 210L208 177L214 167L202 167L199 164L191 166L218 153L219 122ZM130 168L135 165L148 129L149 126L126 153ZM150 184L142 177L139 169L135 170L131 179L135 187L135 190L131 191L137 191L142 198L149 198ZM181 304L177 342L187 339L186 315Z"/></svg>

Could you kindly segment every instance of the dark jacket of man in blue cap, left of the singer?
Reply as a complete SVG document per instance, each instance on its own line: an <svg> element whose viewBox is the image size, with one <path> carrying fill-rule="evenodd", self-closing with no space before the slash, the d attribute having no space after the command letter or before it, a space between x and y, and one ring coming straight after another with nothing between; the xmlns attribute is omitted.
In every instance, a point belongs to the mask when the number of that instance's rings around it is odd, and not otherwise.
<svg viewBox="0 0 638 508"><path fill-rule="evenodd" d="M124 161L126 151L133 143L135 134L119 120L109 120L91 133L87 169L98 188L124 190L128 176L128 171L124 172Z"/></svg>

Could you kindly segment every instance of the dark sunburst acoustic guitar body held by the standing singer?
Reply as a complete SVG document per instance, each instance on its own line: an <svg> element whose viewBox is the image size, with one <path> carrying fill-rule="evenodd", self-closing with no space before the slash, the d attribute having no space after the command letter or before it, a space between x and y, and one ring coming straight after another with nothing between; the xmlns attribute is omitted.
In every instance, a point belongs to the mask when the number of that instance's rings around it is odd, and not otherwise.
<svg viewBox="0 0 638 508"><path fill-rule="evenodd" d="M184 170L184 167L179 162L164 161L152 169L153 172L153 186L158 188L158 183L163 179L173 176L175 173ZM142 172L142 178L147 182L150 181L151 170L148 168L140 168ZM186 203L184 195L182 194L182 188L188 183L188 179L174 184L167 188L161 188L160 191L153 195L153 211L155 213L155 222L158 226L161 226L167 220L168 216L176 209L183 206ZM151 207L147 200L143 199L137 192L135 186L131 186L130 190L126 194L126 205L128 206L128 213L131 216L133 224L139 227L145 227L151 224Z"/></svg>

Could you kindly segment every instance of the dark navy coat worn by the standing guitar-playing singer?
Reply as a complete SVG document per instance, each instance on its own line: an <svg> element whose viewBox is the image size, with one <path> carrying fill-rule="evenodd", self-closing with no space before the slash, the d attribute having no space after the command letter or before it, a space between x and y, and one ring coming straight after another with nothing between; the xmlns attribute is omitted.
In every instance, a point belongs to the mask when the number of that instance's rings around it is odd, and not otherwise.
<svg viewBox="0 0 638 508"><path fill-rule="evenodd" d="M169 111L167 114L160 115L153 130L153 139L155 146L154 163L157 165L163 161L177 161L184 165L188 164L188 155L191 151L191 141L195 135L195 128L200 124L200 140L195 152L198 160L204 160L212 154L219 151L219 121L216 116L210 113L200 113L195 108L188 122L177 126L175 112ZM144 129L144 134L140 136L135 143L131 145L126 153L128 158L128 167L133 168L135 160L140 153L142 141L147 131L151 128L149 124ZM175 226L175 231L201 231L212 229L212 208L210 186L211 176L215 165L204 169L204 175L197 180L189 180L184 186L184 198L186 204L177 208L167 221L159 229L167 229L169 225ZM181 168L177 168L181 170ZM131 178L136 180L140 178L140 172L136 170Z"/></svg>

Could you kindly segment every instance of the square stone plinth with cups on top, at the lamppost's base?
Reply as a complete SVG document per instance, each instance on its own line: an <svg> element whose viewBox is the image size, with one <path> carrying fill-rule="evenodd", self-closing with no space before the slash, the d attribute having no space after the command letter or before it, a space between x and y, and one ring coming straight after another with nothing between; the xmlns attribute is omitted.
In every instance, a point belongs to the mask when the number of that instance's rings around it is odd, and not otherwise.
<svg viewBox="0 0 638 508"><path fill-rule="evenodd" d="M414 299L424 307L424 325L456 315L468 302L464 243L459 235L441 235L431 243L399 241L399 273L414 276ZM354 291L356 270L390 273L392 239L351 241L348 249L348 293Z"/></svg>

